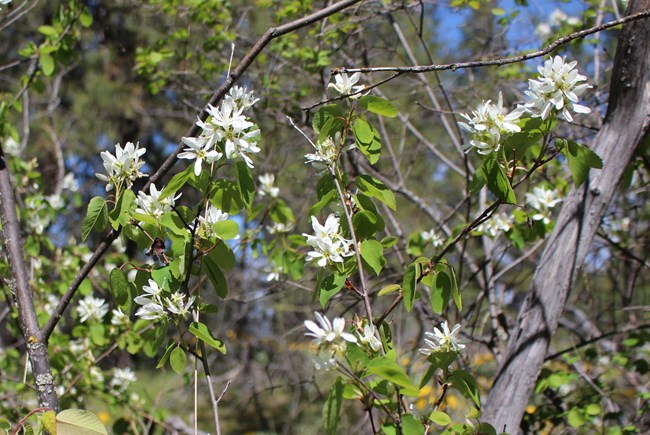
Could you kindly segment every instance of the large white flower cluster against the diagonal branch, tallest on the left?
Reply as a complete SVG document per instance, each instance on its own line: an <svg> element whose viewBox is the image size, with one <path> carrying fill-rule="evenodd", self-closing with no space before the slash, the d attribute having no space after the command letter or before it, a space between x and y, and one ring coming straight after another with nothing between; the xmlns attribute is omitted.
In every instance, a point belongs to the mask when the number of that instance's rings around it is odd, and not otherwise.
<svg viewBox="0 0 650 435"><path fill-rule="evenodd" d="M203 161L210 164L224 155L228 159L241 156L249 168L253 161L248 154L260 152L257 143L260 140L260 130L250 122L244 112L252 107L258 98L253 97L253 91L235 86L223 99L219 107L208 105L210 115L204 122L200 119L196 125L201 128L198 137L184 137L183 143L188 146L178 155L179 159L196 160L194 174L201 174Z"/></svg>

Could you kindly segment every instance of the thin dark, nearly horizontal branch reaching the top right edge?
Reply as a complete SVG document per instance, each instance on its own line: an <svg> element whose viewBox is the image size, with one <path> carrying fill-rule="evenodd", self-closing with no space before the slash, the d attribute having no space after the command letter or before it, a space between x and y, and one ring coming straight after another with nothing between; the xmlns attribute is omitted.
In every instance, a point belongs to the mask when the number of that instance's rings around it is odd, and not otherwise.
<svg viewBox="0 0 650 435"><path fill-rule="evenodd" d="M440 65L378 66L378 67L367 67L367 68L333 68L332 75L341 74L341 73L356 73L356 72L362 72L362 73L394 72L397 73L398 75L399 74L421 74L421 73L426 73L431 71L443 71L443 70L456 71L458 69L478 68L478 67L491 66L491 65L507 65L509 63L523 62L528 59L534 59L536 57L545 56L551 53L556 48L561 47L562 45L565 45L575 39L583 38L593 33L598 33L600 31L612 27L616 27L630 21L640 20L647 17L650 17L650 9L643 10L641 12L638 12L633 15L629 15L627 17L623 17L618 20L609 21L605 24L601 24L600 26L594 26L588 29L571 33L570 35L563 36L562 38L556 39L555 41L553 41L552 43L550 43L549 45L547 45L545 48L541 50L533 51L532 53L521 54L519 56L503 57L499 59L480 60L480 61L472 61L472 62L448 63L448 64L440 64Z"/></svg>

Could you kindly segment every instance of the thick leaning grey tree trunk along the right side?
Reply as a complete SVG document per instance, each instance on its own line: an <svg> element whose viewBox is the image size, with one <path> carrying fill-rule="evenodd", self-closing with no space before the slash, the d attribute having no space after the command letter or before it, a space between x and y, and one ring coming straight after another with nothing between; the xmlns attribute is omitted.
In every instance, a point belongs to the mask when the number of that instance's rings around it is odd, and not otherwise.
<svg viewBox="0 0 650 435"><path fill-rule="evenodd" d="M650 8L632 0L628 14ZM519 431L549 342L557 329L569 290L634 151L650 127L650 20L626 24L621 31L610 98L594 151L604 162L564 201L555 229L535 270L510 341L488 395L483 419L497 431Z"/></svg>

